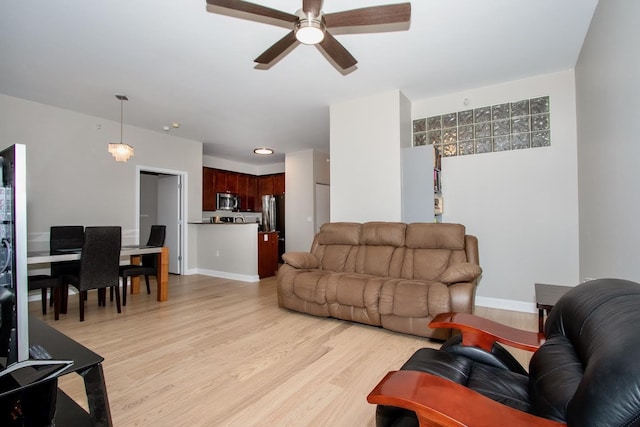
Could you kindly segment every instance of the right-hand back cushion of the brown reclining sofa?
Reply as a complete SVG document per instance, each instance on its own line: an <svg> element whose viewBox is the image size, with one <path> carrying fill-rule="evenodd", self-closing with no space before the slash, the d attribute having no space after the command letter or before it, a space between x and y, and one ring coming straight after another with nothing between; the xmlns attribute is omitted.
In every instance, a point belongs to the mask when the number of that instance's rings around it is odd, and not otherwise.
<svg viewBox="0 0 640 427"><path fill-rule="evenodd" d="M465 228L461 224L407 225L401 277L439 280L447 267L467 262Z"/></svg>

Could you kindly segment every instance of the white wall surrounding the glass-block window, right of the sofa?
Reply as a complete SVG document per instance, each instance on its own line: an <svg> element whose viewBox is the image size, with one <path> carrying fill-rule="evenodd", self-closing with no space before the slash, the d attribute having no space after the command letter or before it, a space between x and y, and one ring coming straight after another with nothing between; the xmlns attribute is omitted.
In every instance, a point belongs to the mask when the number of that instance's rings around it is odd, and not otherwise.
<svg viewBox="0 0 640 427"><path fill-rule="evenodd" d="M535 282L579 281L574 74L506 82L412 106L415 119L546 95L550 147L442 159L443 221L464 224L479 240L484 272L478 305L533 310Z"/></svg>

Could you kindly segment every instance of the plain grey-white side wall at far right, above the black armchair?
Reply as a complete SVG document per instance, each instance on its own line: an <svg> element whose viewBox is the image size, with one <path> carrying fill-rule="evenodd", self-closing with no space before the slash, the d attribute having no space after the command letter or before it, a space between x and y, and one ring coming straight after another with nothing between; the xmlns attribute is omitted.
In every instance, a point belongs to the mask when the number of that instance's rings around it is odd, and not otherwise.
<svg viewBox="0 0 640 427"><path fill-rule="evenodd" d="M638 17L638 1L601 1L576 65L582 279L640 282Z"/></svg>

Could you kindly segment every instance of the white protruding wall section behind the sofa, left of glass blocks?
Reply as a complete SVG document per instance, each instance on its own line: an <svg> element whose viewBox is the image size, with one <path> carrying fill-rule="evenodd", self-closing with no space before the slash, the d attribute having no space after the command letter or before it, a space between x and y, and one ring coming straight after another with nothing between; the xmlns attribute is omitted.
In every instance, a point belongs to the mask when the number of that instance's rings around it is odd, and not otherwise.
<svg viewBox="0 0 640 427"><path fill-rule="evenodd" d="M331 221L400 221L400 148L411 142L410 104L389 91L334 104Z"/></svg>

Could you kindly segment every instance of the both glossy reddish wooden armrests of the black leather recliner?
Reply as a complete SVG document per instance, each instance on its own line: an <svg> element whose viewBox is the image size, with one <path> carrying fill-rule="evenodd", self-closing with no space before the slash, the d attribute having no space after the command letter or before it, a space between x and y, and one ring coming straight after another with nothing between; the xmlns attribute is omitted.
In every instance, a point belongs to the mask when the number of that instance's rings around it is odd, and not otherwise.
<svg viewBox="0 0 640 427"><path fill-rule="evenodd" d="M544 343L544 335L523 331L467 313L442 313L431 328L453 328L462 333L463 345L491 351L494 342L528 351ZM369 393L375 405L395 406L416 413L426 426L566 426L498 403L465 386L418 371L391 371Z"/></svg>

